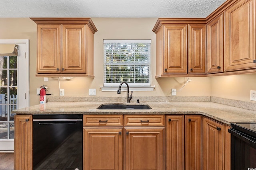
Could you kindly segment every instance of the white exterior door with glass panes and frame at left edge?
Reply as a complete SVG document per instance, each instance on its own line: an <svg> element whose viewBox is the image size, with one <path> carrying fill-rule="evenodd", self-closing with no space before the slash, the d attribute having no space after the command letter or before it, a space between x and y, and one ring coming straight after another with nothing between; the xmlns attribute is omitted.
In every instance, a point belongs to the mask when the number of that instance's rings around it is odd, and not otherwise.
<svg viewBox="0 0 256 170"><path fill-rule="evenodd" d="M17 44L18 56L0 56L0 152L14 151L12 110L29 106L29 40L1 40Z"/></svg>

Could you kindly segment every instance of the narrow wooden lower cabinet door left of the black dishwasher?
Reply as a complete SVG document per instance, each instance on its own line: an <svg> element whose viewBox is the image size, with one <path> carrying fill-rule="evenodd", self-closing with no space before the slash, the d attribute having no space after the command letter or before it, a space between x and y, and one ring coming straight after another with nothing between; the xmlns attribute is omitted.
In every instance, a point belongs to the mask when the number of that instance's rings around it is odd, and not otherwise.
<svg viewBox="0 0 256 170"><path fill-rule="evenodd" d="M14 169L32 170L32 115L15 115L14 127Z"/></svg>

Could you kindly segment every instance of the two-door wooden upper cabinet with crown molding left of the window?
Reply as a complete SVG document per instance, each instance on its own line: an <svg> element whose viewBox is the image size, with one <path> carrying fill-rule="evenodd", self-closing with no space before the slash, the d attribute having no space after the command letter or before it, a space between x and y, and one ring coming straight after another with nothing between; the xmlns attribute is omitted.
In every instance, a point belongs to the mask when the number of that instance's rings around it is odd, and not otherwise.
<svg viewBox="0 0 256 170"><path fill-rule="evenodd" d="M93 76L97 31L90 18L31 18L37 23L37 76Z"/></svg>

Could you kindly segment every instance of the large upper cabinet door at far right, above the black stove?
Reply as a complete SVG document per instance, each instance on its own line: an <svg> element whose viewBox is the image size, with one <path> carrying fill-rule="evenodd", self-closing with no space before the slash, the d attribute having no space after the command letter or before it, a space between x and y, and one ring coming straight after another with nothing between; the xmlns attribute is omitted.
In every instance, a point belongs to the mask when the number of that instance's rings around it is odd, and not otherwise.
<svg viewBox="0 0 256 170"><path fill-rule="evenodd" d="M225 71L255 68L255 0L237 1L224 17Z"/></svg>

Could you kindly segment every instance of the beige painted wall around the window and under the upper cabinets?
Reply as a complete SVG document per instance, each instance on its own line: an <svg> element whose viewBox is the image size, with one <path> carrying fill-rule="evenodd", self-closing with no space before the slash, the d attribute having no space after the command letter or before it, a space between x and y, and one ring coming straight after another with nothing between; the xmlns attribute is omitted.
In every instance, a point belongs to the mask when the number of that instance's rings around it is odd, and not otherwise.
<svg viewBox="0 0 256 170"><path fill-rule="evenodd" d="M171 96L172 88L177 89L177 96L217 96L249 101L248 93L256 90L256 74L221 77L191 77L192 81L179 91L186 82L185 77L154 78L156 70L156 36L152 29L157 18L92 18L98 31L94 34L94 76L74 77L61 80L60 87L65 96L88 96L89 88L96 88L97 96L126 96L116 92L101 92L103 86L103 39L151 39L151 92L134 92L133 96ZM0 39L30 40L30 106L39 104L36 88L47 85L54 96L59 96L58 78L36 77L36 24L29 18L0 18ZM4 25L4 26L2 26ZM242 81L240 81L242 80ZM234 85L235 83L235 85ZM246 87L244 85L246 84ZM254 88L254 89L253 89Z"/></svg>

